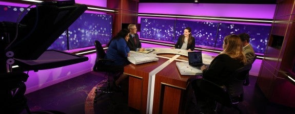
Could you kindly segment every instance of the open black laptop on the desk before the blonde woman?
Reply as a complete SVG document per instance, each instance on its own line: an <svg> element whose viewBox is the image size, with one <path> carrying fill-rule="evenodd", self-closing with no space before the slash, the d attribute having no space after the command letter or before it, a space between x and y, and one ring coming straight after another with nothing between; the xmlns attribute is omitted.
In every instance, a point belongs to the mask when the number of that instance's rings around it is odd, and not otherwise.
<svg viewBox="0 0 295 114"><path fill-rule="evenodd" d="M203 64L202 52L188 52L188 64L197 69L201 69Z"/></svg>

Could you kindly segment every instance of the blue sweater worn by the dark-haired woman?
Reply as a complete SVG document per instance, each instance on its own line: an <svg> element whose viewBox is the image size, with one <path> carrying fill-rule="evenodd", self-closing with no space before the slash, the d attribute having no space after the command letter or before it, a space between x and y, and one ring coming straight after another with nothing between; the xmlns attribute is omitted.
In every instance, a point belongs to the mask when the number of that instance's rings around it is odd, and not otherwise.
<svg viewBox="0 0 295 114"><path fill-rule="evenodd" d="M127 56L130 52L124 38L111 40L109 48L107 50L106 59L114 60L114 62L107 62L108 65L125 65L128 63Z"/></svg>

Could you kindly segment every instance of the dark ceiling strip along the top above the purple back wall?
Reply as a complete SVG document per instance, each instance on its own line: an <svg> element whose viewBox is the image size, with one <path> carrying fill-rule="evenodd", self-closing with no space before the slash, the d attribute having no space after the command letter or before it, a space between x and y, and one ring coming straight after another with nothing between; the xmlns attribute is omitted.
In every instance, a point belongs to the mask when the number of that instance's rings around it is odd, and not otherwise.
<svg viewBox="0 0 295 114"><path fill-rule="evenodd" d="M276 0L198 0L215 4L276 4ZM194 0L140 0L140 3L194 3Z"/></svg>

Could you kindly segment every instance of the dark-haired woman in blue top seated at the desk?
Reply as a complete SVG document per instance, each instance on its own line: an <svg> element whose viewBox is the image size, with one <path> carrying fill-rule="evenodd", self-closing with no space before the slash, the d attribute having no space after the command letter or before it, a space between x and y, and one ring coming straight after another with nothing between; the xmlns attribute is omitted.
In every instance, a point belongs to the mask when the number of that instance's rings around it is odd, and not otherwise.
<svg viewBox="0 0 295 114"><path fill-rule="evenodd" d="M105 59L111 59L114 60L114 62L107 62L107 65L122 66L121 69L123 71L124 66L130 63L127 59L127 57L130 56L130 49L127 45L128 39L129 31L127 29L122 29L110 40ZM127 77L128 75L122 73L114 84L119 87L120 82Z"/></svg>

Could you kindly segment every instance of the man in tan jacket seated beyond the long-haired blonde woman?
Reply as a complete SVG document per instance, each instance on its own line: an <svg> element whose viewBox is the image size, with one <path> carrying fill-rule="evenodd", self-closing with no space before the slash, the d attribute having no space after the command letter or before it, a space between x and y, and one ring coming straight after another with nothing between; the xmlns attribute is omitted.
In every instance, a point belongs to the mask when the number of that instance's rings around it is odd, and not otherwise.
<svg viewBox="0 0 295 114"><path fill-rule="evenodd" d="M241 33L239 34L239 37L241 38L242 44L243 44L243 52L246 56L247 62L245 65L252 64L255 58L255 53L254 50L249 43L250 36L247 33Z"/></svg>

